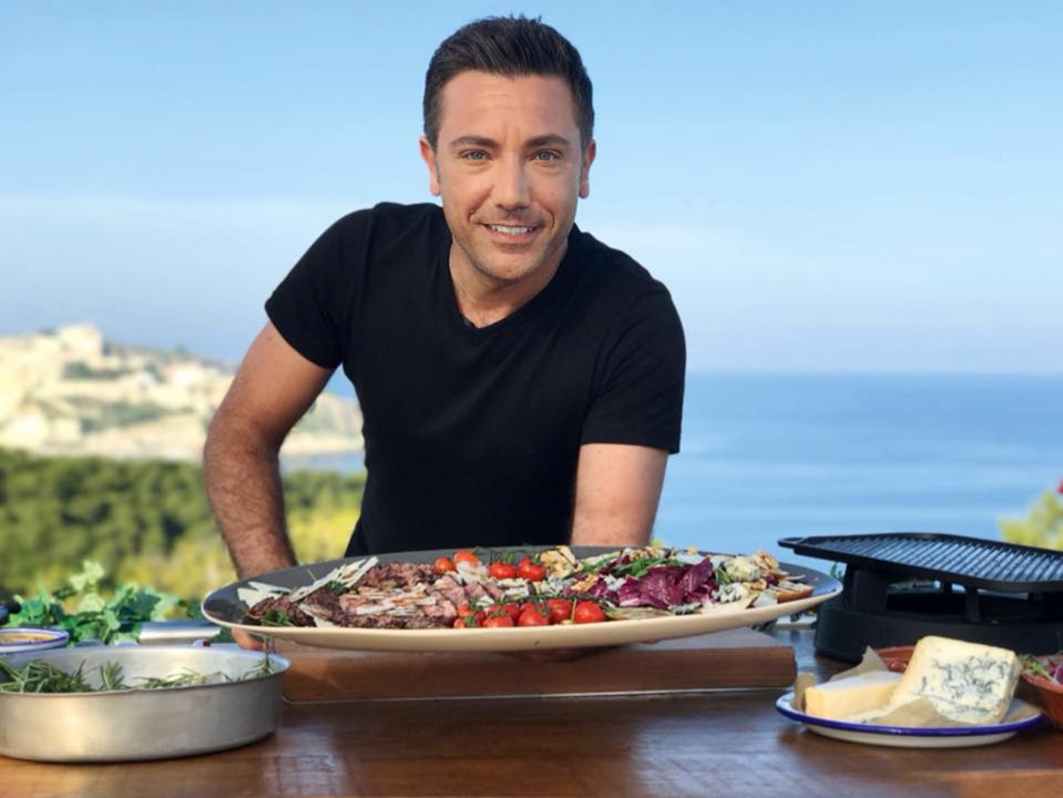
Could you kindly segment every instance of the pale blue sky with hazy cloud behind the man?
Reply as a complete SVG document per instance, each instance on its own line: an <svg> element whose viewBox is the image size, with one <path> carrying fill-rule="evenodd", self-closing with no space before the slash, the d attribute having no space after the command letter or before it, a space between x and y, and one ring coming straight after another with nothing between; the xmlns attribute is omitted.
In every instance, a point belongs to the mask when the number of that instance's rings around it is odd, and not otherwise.
<svg viewBox="0 0 1063 798"><path fill-rule="evenodd" d="M541 16L594 82L576 222L693 370L1061 372L1063 3L0 1L0 335L236 361L345 213L427 202L425 70Z"/></svg>

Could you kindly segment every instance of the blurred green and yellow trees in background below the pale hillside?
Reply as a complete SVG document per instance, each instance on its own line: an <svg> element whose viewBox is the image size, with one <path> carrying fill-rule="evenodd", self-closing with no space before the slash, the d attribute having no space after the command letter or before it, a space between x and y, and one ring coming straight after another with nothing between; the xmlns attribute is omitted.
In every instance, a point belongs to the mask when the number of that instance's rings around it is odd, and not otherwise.
<svg viewBox="0 0 1063 798"><path fill-rule="evenodd" d="M299 471L285 504L303 562L340 556L358 519L361 474ZM191 463L40 458L0 450L0 586L30 593L85 560L114 581L198 598L235 579Z"/></svg>

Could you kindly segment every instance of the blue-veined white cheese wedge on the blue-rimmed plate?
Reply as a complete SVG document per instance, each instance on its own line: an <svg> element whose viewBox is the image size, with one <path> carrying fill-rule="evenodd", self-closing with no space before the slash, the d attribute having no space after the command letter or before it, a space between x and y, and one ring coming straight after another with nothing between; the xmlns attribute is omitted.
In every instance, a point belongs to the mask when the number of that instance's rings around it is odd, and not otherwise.
<svg viewBox="0 0 1063 798"><path fill-rule="evenodd" d="M998 724L1008 714L1021 671L1019 657L1006 648L923 637L890 704L927 698L947 718Z"/></svg>

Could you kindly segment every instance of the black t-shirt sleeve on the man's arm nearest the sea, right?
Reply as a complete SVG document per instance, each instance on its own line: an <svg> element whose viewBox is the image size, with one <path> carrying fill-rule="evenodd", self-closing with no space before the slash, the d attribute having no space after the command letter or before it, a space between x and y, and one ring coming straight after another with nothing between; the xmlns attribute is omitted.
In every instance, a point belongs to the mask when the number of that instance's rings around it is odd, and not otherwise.
<svg viewBox="0 0 1063 798"><path fill-rule="evenodd" d="M686 344L666 289L640 297L619 321L596 380L581 443L679 451Z"/></svg>

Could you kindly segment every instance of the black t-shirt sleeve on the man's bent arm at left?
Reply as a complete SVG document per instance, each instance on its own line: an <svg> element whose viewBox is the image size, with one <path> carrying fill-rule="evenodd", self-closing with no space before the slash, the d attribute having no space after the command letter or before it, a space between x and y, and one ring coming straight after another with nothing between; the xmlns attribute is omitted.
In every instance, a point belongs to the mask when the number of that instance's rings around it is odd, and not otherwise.
<svg viewBox="0 0 1063 798"><path fill-rule="evenodd" d="M366 215L350 214L325 231L266 300L266 315L282 337L321 368L344 359Z"/></svg>

